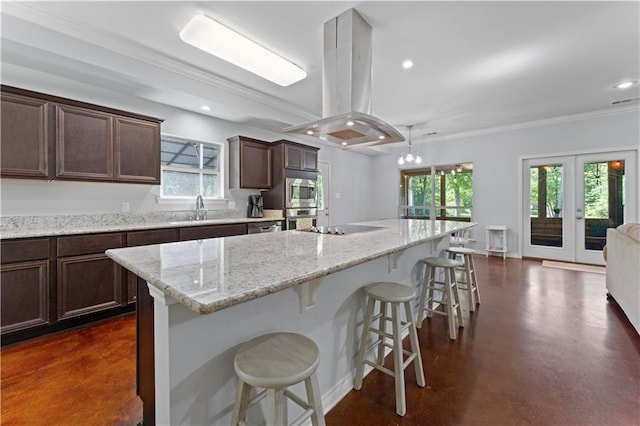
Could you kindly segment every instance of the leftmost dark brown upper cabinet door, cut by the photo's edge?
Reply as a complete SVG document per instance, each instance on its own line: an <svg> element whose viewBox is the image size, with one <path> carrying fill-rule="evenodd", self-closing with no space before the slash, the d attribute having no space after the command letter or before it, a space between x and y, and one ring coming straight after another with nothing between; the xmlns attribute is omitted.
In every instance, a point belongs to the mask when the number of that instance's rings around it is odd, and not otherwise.
<svg viewBox="0 0 640 426"><path fill-rule="evenodd" d="M2 176L49 177L48 108L46 101L2 94Z"/></svg>

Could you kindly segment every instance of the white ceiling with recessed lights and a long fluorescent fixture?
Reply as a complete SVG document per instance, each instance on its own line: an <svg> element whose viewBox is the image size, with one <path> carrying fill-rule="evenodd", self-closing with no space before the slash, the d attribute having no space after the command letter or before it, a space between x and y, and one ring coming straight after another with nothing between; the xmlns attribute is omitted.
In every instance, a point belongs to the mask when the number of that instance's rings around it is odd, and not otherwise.
<svg viewBox="0 0 640 426"><path fill-rule="evenodd" d="M321 118L323 24L373 28L372 114L414 142L637 108L640 3L3 2L3 83L63 78L278 130ZM204 13L307 71L280 87L187 45ZM405 59L415 66L402 68ZM209 105L210 111L200 109ZM437 132L436 136L426 136Z"/></svg>

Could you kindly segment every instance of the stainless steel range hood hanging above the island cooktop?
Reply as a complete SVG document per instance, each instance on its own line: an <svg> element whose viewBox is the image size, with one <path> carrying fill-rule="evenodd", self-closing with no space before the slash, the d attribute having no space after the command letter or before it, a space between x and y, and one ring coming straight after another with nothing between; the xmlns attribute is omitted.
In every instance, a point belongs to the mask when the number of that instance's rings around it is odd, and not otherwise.
<svg viewBox="0 0 640 426"><path fill-rule="evenodd" d="M322 118L284 129L345 148L402 142L393 126L371 115L371 26L355 9L324 24Z"/></svg>

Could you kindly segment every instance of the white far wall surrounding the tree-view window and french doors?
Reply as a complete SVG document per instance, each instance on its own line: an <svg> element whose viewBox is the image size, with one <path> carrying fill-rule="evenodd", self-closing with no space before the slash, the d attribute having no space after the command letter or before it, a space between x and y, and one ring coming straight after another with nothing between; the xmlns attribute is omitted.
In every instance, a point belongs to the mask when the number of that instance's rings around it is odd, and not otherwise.
<svg viewBox="0 0 640 426"><path fill-rule="evenodd" d="M640 117L637 111L616 115L529 127L431 143L414 143L423 165L473 162L473 231L477 249L484 248L484 226L508 227L509 255L519 242L519 159L523 156L560 155L581 151L639 147ZM375 160L376 218L397 217L401 148ZM640 218L640 212L637 217Z"/></svg>

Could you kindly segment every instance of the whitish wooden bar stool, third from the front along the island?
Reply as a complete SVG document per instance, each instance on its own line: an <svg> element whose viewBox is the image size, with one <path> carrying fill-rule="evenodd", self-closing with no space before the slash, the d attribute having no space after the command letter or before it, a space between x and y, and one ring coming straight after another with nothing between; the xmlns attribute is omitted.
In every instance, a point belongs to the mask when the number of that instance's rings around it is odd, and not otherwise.
<svg viewBox="0 0 640 426"><path fill-rule="evenodd" d="M455 268L460 264L453 259L443 257L427 257L420 259L420 261L424 263L426 267L424 280L422 282L422 292L420 293L420 303L418 305L418 328L422 327L425 312L427 317L431 317L433 313L446 315L449 321L449 338L455 340L458 337L458 327L464 327L455 271ZM444 270L444 282L436 280L437 268ZM436 286L436 284L441 284L443 287ZM445 307L444 312L432 308L434 291L439 291L443 295L442 303Z"/></svg>

